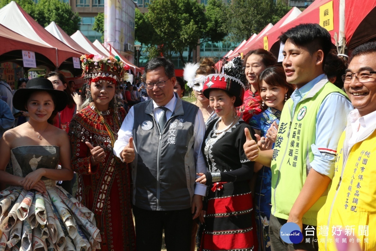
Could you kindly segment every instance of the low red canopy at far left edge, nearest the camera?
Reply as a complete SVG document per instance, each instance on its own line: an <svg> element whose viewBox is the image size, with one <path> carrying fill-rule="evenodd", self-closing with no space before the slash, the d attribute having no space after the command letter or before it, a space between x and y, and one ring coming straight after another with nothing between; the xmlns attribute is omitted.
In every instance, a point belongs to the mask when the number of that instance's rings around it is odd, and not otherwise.
<svg viewBox="0 0 376 251"><path fill-rule="evenodd" d="M56 49L50 46L33 41L23 37L20 34L8 29L0 24L0 58L4 57L6 61L12 59L22 59L21 50L30 50L35 52L36 63L54 67L56 61ZM40 54L40 55L38 55ZM0 59L0 61L3 61Z"/></svg>

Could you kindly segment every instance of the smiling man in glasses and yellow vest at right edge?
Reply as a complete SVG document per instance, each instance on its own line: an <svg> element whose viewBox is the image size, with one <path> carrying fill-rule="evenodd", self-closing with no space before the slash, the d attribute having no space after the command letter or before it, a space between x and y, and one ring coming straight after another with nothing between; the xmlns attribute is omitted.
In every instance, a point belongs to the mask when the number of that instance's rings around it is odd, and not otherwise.
<svg viewBox="0 0 376 251"><path fill-rule="evenodd" d="M355 109L347 117L332 186L317 215L321 251L335 251L337 243L350 239L362 250L376 250L376 42L356 47L350 60L342 79Z"/></svg>

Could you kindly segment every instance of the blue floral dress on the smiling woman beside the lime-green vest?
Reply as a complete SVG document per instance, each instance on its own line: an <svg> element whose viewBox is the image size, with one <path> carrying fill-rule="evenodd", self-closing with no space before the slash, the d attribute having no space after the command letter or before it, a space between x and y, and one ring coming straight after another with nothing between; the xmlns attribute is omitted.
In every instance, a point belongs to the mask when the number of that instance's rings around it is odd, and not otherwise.
<svg viewBox="0 0 376 251"><path fill-rule="evenodd" d="M277 124L279 123L280 115L280 111L268 107L267 110L253 116L249 124L252 128L261 131L260 136L265 137L270 125L274 121L276 121ZM270 167L263 166L256 175L254 202L259 250L270 251L269 219L271 212L271 169Z"/></svg>

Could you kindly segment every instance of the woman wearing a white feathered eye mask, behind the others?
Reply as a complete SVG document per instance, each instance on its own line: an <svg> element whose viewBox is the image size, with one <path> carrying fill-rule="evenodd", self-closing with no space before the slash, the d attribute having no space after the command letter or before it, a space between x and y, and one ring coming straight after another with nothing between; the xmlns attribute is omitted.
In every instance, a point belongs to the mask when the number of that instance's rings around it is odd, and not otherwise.
<svg viewBox="0 0 376 251"><path fill-rule="evenodd" d="M217 68L215 68L215 63L210 58L202 58L200 64L188 63L183 70L184 80L187 81L189 87L193 88L193 93L196 97L196 101L193 103L199 106L204 117L205 126L208 128L209 123L217 118L217 115L210 107L209 99L202 93L202 87L206 76L218 72Z"/></svg>

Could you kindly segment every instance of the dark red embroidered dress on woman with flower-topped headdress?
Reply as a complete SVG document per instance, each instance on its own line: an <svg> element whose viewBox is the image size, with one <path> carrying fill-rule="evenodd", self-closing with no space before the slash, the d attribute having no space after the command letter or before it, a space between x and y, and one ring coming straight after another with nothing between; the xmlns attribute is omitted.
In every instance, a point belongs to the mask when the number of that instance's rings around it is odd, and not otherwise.
<svg viewBox="0 0 376 251"><path fill-rule="evenodd" d="M101 113L101 116L99 115ZM112 151L126 112L99 112L91 103L70 124L72 169L78 175L76 197L91 209L102 237L102 251L136 250L130 202L130 173ZM105 149L103 163L92 166L85 141Z"/></svg>

